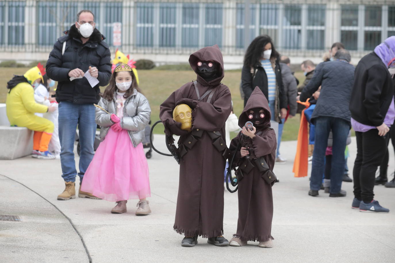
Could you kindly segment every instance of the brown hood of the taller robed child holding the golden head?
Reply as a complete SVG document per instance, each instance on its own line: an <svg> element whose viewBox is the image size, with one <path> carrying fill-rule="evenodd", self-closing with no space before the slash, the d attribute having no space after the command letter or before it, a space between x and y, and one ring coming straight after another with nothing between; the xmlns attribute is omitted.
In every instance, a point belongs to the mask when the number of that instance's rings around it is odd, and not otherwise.
<svg viewBox="0 0 395 263"><path fill-rule="evenodd" d="M213 80L210 80L207 82L202 78L201 76L198 75L198 62L199 61L213 61L216 63L220 64L219 68L219 77L214 78ZM222 53L218 45L214 45L212 47L204 47L189 57L189 64L191 65L192 69L195 71L195 73L198 75L197 79L198 82L201 83L203 86L216 86L220 84L222 78L224 78L224 59L222 58Z"/></svg>

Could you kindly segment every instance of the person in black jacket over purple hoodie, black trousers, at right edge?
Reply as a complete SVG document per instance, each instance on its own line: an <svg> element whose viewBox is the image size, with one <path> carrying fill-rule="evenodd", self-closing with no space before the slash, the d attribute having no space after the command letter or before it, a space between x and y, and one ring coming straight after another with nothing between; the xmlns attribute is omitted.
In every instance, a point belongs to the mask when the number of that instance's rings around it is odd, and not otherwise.
<svg viewBox="0 0 395 263"><path fill-rule="evenodd" d="M353 209L388 213L374 200L374 180L388 144L389 127L395 119L395 36L364 56L355 68L350 100L351 125L357 139L354 163Z"/></svg>

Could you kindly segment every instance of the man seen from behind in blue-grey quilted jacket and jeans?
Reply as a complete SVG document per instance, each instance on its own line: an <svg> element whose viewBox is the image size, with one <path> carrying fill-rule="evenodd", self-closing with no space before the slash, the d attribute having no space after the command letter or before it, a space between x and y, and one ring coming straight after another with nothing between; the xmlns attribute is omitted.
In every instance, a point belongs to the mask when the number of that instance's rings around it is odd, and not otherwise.
<svg viewBox="0 0 395 263"><path fill-rule="evenodd" d="M354 66L350 64L350 53L340 49L335 61L319 64L314 75L300 95L306 101L320 86L321 93L311 121L315 125L314 152L311 168L310 196L318 196L324 173L325 150L329 132L333 133L333 155L331 169L330 197L346 196L341 190L344 173L344 151L348 131L351 127L350 104L351 89L354 84Z"/></svg>

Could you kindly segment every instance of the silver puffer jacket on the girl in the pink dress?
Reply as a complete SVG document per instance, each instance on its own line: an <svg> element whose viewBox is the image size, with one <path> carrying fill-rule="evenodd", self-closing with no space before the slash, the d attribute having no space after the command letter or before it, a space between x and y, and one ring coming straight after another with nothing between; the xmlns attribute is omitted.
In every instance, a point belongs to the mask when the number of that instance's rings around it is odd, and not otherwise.
<svg viewBox="0 0 395 263"><path fill-rule="evenodd" d="M113 101L100 99L99 105L107 110L110 114L117 114L117 93L114 93ZM96 123L102 128L100 129L100 140L104 140L110 126L114 123L111 121L111 115L103 110L96 108ZM123 118L120 125L123 129L128 130L130 140L136 147L144 138L144 128L148 125L151 115L151 108L148 100L143 94L134 90L133 94L128 97L124 104Z"/></svg>

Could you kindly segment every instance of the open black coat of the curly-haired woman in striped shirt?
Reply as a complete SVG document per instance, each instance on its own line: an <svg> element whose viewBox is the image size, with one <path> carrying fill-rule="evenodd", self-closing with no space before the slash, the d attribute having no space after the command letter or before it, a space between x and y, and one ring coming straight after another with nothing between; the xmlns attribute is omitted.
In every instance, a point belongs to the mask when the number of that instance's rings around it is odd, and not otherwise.
<svg viewBox="0 0 395 263"><path fill-rule="evenodd" d="M284 92L284 87L282 85L280 62L277 59L275 62L272 62L272 64L275 65L273 71L276 73L276 94L278 94L275 101L275 112L272 112L272 115L274 114L276 121L280 123L281 120L278 115L280 114L281 108L287 108L287 95ZM267 75L265 69L263 69L260 63L254 67L243 65L243 69L241 70L241 86L245 94L244 106L256 86L260 88L266 99L269 97Z"/></svg>

